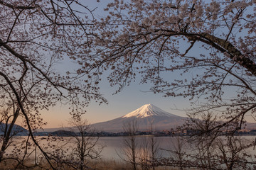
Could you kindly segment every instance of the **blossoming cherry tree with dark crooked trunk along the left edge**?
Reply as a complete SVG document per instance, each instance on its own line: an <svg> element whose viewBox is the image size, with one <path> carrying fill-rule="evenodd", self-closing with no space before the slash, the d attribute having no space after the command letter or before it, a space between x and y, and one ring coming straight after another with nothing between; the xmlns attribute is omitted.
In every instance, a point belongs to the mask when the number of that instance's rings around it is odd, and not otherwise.
<svg viewBox="0 0 256 170"><path fill-rule="evenodd" d="M106 102L97 75L92 79L80 71L85 67L80 60L91 51L93 10L75 0L0 1L1 122L9 124L1 137L0 162L17 120L41 149L33 137L33 130L45 124L40 111L64 103L79 117L91 100Z"/></svg>

